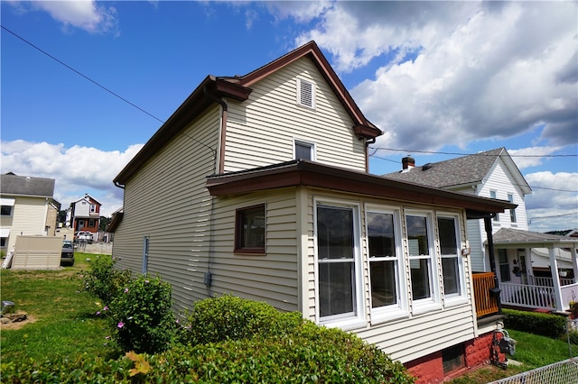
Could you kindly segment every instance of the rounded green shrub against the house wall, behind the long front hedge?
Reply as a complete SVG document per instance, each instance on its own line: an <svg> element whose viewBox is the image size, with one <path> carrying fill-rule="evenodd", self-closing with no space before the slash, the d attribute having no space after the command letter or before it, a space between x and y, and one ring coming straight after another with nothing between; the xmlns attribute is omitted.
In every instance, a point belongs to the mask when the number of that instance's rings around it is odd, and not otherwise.
<svg viewBox="0 0 578 384"><path fill-rule="evenodd" d="M200 300L186 314L184 342L191 345L283 334L303 323L298 312L282 313L266 303L224 295Z"/></svg>

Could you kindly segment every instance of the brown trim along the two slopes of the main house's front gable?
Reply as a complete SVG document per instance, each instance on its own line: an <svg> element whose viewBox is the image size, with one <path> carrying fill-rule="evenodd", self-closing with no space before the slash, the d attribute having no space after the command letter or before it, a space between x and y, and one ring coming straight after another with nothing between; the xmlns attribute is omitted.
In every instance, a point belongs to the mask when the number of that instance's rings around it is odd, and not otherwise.
<svg viewBox="0 0 578 384"><path fill-rule="evenodd" d="M319 49L315 41L309 41L308 43L297 48L296 50L292 50L279 59L275 59L265 66L238 78L238 84L245 87L251 87L254 83L256 83L256 81L262 78L266 78L271 73L275 72L275 70L281 69L284 66L291 64L295 60L303 58L304 56L308 56L310 59L312 59L315 67L319 69L323 78L325 78L325 81L327 81L335 95L339 98L341 105L343 105L347 113L350 114L351 120L353 120L354 124L365 125L370 128L370 130L366 130L365 135L362 136L365 138L373 139L374 137L381 135L381 130L379 130L378 127L376 127L373 123L369 122L365 115L361 112L359 106L350 96L350 92L343 85L335 71L331 68L329 61L325 58L322 50Z"/></svg>

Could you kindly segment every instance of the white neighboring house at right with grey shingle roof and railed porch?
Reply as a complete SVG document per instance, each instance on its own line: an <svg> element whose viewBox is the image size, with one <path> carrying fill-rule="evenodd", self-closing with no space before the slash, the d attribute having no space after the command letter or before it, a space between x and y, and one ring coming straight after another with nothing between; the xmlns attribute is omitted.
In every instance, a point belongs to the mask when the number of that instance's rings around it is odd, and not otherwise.
<svg viewBox="0 0 578 384"><path fill-rule="evenodd" d="M557 249L553 245L555 243L569 245L573 243L572 241L564 240L561 236L527 231L524 198L532 190L505 148L426 163L421 167L416 167L415 159L407 156L402 159L401 171L384 176L480 197L507 199L517 204L517 208L508 210L508 213L491 217L491 234L495 245L495 251L491 255L488 247L489 233L484 227L484 221L468 220L472 270L496 272L499 286L504 288L501 295L503 303L555 310L567 308L568 300L554 298L559 296L559 289L556 293L548 295L552 297L551 299L540 300L526 296L527 302L523 302L525 295L517 293L523 289L527 290L522 287L527 285L536 285L536 292L544 291L545 284L554 287L552 281L541 278L552 280L558 270L562 271L564 278L567 278L560 280L561 284L574 284L578 270L573 269L575 254L573 257L570 251ZM546 238L548 239L546 245L540 247L541 242L538 240L544 241ZM558 264L556 272L552 270L553 264L550 261L552 252Z"/></svg>

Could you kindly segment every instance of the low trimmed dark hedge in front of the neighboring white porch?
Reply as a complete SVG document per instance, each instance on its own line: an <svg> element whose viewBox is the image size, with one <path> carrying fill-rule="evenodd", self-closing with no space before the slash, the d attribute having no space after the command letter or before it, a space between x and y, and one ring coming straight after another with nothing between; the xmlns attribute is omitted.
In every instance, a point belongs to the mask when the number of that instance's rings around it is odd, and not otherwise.
<svg viewBox="0 0 578 384"><path fill-rule="evenodd" d="M509 329L541 334L558 339L566 334L566 318L562 315L542 314L538 312L517 311L504 309L504 326Z"/></svg>

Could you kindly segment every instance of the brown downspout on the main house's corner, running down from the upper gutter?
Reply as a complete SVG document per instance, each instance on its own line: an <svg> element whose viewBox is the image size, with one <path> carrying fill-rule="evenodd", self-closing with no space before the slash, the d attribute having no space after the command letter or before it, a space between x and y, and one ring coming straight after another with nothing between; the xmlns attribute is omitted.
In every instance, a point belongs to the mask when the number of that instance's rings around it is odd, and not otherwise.
<svg viewBox="0 0 578 384"><path fill-rule="evenodd" d="M220 126L219 126L219 142L218 142L217 150L214 151L215 173L219 174L219 173L223 173L224 169L225 169L225 167L224 167L225 151L223 151L223 150L225 147L225 139L226 139L228 105L225 102L225 100L222 99L222 97L217 97L217 96L212 95L207 90L207 85L205 85L202 88L202 90L203 90L203 93L205 94L205 96L209 97L210 100L214 101L215 103L218 103L221 106L221 109L220 109ZM210 197L210 215L209 215L209 253L207 255L207 271L205 272L205 274L203 276L203 283L205 284L205 287L207 287L207 293L208 293L209 297L212 297L211 291L210 291L210 286L212 284L212 273L210 271L210 264L212 261L212 255L215 251L214 250L214 244L213 244L214 213L215 213L215 197L211 196Z"/></svg>

